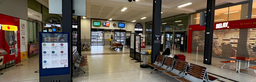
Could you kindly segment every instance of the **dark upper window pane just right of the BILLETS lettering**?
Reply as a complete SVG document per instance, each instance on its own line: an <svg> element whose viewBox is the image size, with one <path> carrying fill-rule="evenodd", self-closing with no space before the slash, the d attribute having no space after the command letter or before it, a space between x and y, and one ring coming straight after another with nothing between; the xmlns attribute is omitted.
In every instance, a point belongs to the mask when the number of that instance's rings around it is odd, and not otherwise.
<svg viewBox="0 0 256 82"><path fill-rule="evenodd" d="M174 30L186 30L188 28L189 15L175 16Z"/></svg>

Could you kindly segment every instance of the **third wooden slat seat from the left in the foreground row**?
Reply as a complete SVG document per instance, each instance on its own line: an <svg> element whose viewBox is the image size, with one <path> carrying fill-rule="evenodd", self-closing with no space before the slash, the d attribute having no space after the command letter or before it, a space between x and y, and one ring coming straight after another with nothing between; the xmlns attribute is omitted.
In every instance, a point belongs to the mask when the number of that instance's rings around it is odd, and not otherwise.
<svg viewBox="0 0 256 82"><path fill-rule="evenodd" d="M172 77L183 77L185 76L185 72L187 71L188 66L189 66L188 62L176 59L173 66L173 70L170 72L164 72L164 73Z"/></svg>

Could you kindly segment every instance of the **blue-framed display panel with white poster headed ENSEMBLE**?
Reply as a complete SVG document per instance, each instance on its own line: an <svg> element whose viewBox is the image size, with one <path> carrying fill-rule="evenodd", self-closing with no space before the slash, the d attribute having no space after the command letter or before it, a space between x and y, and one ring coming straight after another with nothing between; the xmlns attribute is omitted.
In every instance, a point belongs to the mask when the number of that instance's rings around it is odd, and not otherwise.
<svg viewBox="0 0 256 82"><path fill-rule="evenodd" d="M39 32L40 76L70 74L69 33Z"/></svg>

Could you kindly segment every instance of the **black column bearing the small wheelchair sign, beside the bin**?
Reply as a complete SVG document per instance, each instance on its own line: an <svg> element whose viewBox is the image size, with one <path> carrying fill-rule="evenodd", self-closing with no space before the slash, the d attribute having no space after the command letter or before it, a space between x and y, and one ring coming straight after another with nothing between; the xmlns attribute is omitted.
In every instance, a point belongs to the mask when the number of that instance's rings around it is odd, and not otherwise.
<svg viewBox="0 0 256 82"><path fill-rule="evenodd" d="M160 44L154 43L155 35L160 35L161 28L161 7L162 0L153 0L153 29L152 29L152 55L151 63L155 62L156 56L160 53Z"/></svg>

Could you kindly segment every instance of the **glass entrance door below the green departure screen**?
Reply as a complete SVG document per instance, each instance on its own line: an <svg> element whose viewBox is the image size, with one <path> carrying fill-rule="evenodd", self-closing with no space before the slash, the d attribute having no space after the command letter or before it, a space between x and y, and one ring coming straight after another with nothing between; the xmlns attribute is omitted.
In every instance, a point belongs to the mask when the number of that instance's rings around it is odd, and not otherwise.
<svg viewBox="0 0 256 82"><path fill-rule="evenodd" d="M91 45L104 45L104 31L91 31Z"/></svg>

